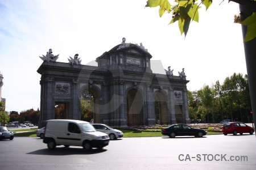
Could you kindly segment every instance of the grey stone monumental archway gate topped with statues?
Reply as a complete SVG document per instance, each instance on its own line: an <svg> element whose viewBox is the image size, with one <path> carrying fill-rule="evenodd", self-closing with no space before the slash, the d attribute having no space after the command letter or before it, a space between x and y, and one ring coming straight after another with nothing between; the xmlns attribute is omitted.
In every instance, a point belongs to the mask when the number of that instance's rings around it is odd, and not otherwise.
<svg viewBox="0 0 256 170"><path fill-rule="evenodd" d="M115 46L96 59L98 66L81 65L79 59L74 62L77 58L69 63L46 58L38 69L39 126L55 118L58 103L65 105L64 118L80 120L84 90L94 96L94 123L155 125L155 97L160 100L160 124L190 123L185 74L174 76L170 70L167 75L152 73L151 54L137 44Z"/></svg>

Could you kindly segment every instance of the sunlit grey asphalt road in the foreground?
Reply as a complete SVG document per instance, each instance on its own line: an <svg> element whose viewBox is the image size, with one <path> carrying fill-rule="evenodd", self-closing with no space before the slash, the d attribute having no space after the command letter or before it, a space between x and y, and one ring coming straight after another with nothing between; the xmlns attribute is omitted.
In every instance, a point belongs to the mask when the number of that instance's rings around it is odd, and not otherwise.
<svg viewBox="0 0 256 170"><path fill-rule="evenodd" d="M234 161L232 161L234 160ZM102 150L57 146L40 138L0 141L1 169L255 169L254 135L141 137L110 141Z"/></svg>

